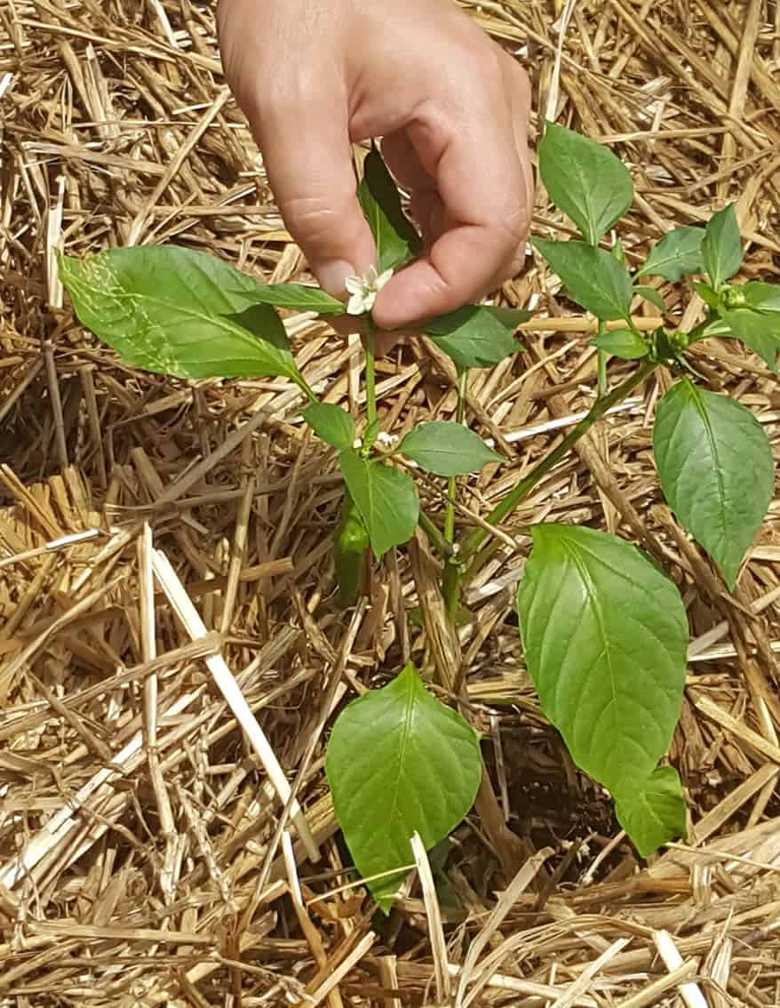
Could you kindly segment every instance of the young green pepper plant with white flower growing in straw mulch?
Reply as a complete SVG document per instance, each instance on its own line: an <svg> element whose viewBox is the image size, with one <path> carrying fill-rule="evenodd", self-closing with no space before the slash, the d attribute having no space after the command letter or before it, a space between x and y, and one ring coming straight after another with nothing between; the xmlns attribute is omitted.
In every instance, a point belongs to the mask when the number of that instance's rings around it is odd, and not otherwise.
<svg viewBox="0 0 780 1008"><path fill-rule="evenodd" d="M503 523L600 417L666 368L675 381L658 403L653 429L661 488L731 589L771 499L772 455L749 409L701 386L690 348L710 336L738 339L774 371L780 287L730 282L743 259L733 206L704 228L671 231L632 272L619 241L603 246L633 202L623 163L598 143L548 123L539 170L550 199L581 236L536 238L533 245L568 297L597 321L598 396L588 415L487 515L487 525ZM392 432L381 429L377 414L371 309L377 291L422 243L376 149L366 158L358 196L377 264L348 282L347 305L314 286L259 283L220 259L172 246L112 249L84 260L62 256L60 276L79 320L130 365L185 379L280 376L296 385L305 400L302 415L336 451L344 481L334 545L339 603L354 604L367 565L403 545L419 525L439 554L446 610L457 621L464 585L491 553L484 526L457 535L457 481L502 461L466 425L469 372L515 354L515 332L528 313L469 304L421 326L454 363L457 419L420 423L388 448ZM645 278L680 283L692 276L700 277L693 288L706 308L703 321L688 333L666 326L640 332L632 316L636 299L666 313L661 290ZM314 394L295 365L278 308L324 319L361 316L365 415L354 417ZM637 363L611 387L612 358ZM420 510L414 467L446 481L440 526ZM613 794L619 822L647 856L685 833L680 780L663 763L685 677L682 600L674 584L619 536L560 523L534 525L530 534L517 606L541 710L577 765ZM388 685L343 711L326 770L356 867L387 909L412 860L412 834L428 849L441 841L468 813L483 763L468 721L436 700L407 664Z"/></svg>

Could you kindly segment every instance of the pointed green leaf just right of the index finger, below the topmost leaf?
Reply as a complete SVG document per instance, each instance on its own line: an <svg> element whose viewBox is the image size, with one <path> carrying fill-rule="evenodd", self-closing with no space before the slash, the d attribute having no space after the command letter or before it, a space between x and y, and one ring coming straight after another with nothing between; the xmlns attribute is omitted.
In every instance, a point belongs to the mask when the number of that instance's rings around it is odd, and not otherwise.
<svg viewBox="0 0 780 1008"><path fill-rule="evenodd" d="M598 319L629 318L631 276L609 252L582 242L550 242L542 238L532 241L577 304Z"/></svg>

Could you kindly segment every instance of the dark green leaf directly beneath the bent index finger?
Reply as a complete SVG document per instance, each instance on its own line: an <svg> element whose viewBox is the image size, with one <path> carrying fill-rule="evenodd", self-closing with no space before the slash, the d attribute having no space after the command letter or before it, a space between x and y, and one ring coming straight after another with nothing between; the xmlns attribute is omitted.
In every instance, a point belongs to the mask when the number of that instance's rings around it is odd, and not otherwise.
<svg viewBox="0 0 780 1008"><path fill-rule="evenodd" d="M422 329L462 370L489 368L516 353L515 330L529 311L488 304L466 304L439 316Z"/></svg>

